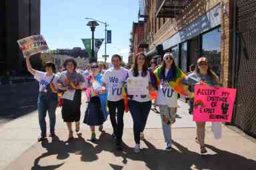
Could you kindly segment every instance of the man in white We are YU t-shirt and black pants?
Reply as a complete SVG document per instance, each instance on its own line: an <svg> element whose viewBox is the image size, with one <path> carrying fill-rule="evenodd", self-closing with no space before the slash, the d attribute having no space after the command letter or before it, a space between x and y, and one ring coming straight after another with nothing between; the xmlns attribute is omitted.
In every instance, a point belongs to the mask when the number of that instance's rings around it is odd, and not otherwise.
<svg viewBox="0 0 256 170"><path fill-rule="evenodd" d="M128 70L121 67L121 56L118 54L112 56L111 63L113 67L105 71L102 81L103 85L108 88L107 107L109 108L110 120L113 126L113 137L116 137L117 149L121 150L123 149L121 144L123 136L123 114L125 112L122 90L123 84L127 79Z"/></svg>

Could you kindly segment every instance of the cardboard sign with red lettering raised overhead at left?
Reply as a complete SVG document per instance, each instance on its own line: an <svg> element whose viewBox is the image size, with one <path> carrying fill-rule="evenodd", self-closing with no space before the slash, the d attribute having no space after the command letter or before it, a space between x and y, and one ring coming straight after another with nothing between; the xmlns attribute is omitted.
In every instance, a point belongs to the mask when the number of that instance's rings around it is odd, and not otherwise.
<svg viewBox="0 0 256 170"><path fill-rule="evenodd" d="M43 39L42 35L32 35L30 37L20 39L17 42L24 57L49 50L47 42Z"/></svg>

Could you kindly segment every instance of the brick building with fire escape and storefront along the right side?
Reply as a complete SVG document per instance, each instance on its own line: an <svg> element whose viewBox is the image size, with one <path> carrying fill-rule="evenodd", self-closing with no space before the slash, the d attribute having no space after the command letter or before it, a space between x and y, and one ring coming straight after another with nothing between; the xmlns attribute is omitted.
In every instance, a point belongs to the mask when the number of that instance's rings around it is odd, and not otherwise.
<svg viewBox="0 0 256 170"><path fill-rule="evenodd" d="M223 85L237 88L232 123L256 136L255 10L254 0L139 0L148 60L172 52L187 72L207 56Z"/></svg>

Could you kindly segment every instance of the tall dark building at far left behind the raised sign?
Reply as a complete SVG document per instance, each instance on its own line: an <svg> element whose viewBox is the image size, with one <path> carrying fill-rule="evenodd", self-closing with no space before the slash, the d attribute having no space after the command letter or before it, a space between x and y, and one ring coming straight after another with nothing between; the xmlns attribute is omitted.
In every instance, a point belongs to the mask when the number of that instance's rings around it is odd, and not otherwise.
<svg viewBox="0 0 256 170"><path fill-rule="evenodd" d="M40 0L0 2L0 72L25 70L17 40L40 34ZM33 60L39 62L39 60ZM1 74L0 73L0 74Z"/></svg>

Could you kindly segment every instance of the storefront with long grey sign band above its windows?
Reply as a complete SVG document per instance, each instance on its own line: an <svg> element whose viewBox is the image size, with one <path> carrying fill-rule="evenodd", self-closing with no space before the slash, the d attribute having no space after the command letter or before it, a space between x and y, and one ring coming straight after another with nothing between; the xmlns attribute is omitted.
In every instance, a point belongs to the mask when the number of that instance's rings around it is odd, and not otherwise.
<svg viewBox="0 0 256 170"><path fill-rule="evenodd" d="M221 76L221 8L217 5L205 15L163 42L164 52L172 52L184 72L197 58L206 56L211 68Z"/></svg>

